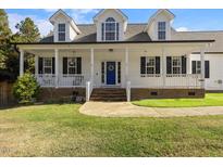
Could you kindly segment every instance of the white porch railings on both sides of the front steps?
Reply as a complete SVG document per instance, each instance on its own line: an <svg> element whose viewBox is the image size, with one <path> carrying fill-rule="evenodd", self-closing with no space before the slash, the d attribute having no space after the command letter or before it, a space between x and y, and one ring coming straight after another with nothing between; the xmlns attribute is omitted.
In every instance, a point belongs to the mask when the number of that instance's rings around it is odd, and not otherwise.
<svg viewBox="0 0 223 167"><path fill-rule="evenodd" d="M37 81L41 87L86 87L87 76L83 75L60 75L55 81L55 75L37 75ZM170 89L197 89L201 88L201 75L198 74L168 74L168 75L144 75L131 77L132 88L170 88ZM126 82L127 84L127 82ZM127 87L127 85L126 85ZM90 91L92 89L90 82Z"/></svg>

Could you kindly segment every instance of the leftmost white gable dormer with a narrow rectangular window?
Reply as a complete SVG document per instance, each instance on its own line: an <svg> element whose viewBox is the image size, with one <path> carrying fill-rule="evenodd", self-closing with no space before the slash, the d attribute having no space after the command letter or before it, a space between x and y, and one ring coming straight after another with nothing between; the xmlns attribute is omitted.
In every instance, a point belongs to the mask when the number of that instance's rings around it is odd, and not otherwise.
<svg viewBox="0 0 223 167"><path fill-rule="evenodd" d="M53 25L54 42L70 42L80 34L73 18L62 10L58 10L49 21Z"/></svg>

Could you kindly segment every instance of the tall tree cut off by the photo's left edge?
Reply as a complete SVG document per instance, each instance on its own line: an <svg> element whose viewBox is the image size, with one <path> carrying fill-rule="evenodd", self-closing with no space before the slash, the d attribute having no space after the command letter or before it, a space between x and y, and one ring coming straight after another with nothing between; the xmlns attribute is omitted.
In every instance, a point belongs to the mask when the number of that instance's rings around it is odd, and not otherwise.
<svg viewBox="0 0 223 167"><path fill-rule="evenodd" d="M0 69L5 69L5 59L10 52L10 36L8 15L4 10L0 9Z"/></svg>

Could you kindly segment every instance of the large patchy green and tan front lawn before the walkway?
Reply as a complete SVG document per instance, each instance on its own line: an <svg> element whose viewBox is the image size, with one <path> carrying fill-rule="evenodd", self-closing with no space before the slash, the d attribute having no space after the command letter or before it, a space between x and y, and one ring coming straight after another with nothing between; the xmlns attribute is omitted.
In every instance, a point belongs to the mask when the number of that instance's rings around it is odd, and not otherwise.
<svg viewBox="0 0 223 167"><path fill-rule="evenodd" d="M102 118L77 104L0 111L0 156L223 156L223 116Z"/></svg>

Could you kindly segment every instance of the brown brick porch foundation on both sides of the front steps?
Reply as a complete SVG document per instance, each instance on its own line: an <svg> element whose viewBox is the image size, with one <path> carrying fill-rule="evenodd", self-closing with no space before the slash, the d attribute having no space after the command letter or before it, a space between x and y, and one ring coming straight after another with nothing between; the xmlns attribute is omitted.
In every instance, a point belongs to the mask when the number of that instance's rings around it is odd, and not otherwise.
<svg viewBox="0 0 223 167"><path fill-rule="evenodd" d="M71 100L73 91L78 92L78 97L85 100L85 88L41 88L38 101L59 102ZM144 89L132 88L131 99L174 99L174 98L205 98L203 89Z"/></svg>

